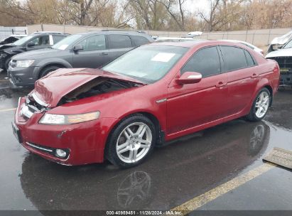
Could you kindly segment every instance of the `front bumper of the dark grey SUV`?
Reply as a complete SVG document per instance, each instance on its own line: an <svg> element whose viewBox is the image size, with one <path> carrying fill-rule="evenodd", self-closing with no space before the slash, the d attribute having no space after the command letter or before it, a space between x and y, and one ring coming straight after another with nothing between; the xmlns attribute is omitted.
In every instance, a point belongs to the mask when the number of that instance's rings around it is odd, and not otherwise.
<svg viewBox="0 0 292 216"><path fill-rule="evenodd" d="M11 68L11 66L9 66L7 75L14 85L31 86L38 80L36 77L36 70L38 70L38 67Z"/></svg>

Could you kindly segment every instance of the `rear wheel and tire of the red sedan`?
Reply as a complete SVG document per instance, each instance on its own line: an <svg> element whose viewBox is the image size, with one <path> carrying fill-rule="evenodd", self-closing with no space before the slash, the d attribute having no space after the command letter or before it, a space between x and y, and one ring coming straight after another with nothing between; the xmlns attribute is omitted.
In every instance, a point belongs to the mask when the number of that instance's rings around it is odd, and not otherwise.
<svg viewBox="0 0 292 216"><path fill-rule="evenodd" d="M266 116L266 112L269 109L271 102L271 94L269 90L263 88L259 91L259 94L256 95L256 99L252 104L252 109L247 115L247 120L249 121L261 121Z"/></svg>

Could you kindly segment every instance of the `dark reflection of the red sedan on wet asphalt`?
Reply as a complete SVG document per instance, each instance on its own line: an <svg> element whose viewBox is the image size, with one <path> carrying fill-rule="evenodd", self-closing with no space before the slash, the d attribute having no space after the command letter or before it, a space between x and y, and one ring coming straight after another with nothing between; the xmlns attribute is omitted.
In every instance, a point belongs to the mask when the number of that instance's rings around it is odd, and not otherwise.
<svg viewBox="0 0 292 216"><path fill-rule="evenodd" d="M269 144L269 133L264 122L234 121L160 148L129 170L109 163L68 168L27 154L21 188L40 210L166 210L253 163Z"/></svg>

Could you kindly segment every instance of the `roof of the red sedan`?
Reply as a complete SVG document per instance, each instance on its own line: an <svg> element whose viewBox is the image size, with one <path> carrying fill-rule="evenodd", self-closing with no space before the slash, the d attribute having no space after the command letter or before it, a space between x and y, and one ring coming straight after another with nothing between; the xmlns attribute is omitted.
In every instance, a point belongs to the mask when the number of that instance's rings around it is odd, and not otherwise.
<svg viewBox="0 0 292 216"><path fill-rule="evenodd" d="M204 40L204 39L198 39L193 41L180 41L180 42L154 42L150 45L172 45L172 46L178 46L178 47L185 47L185 48L194 48L198 45L238 45L241 48L246 48L245 45L234 44L229 41L216 41L216 40Z"/></svg>

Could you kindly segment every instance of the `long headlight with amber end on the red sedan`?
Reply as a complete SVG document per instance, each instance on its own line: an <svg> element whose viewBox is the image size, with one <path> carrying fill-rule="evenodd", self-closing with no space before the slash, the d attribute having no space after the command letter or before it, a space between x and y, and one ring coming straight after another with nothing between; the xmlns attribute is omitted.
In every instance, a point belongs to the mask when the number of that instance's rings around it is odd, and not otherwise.
<svg viewBox="0 0 292 216"><path fill-rule="evenodd" d="M45 114L39 121L40 124L77 124L98 119L100 112L88 112L85 114Z"/></svg>

